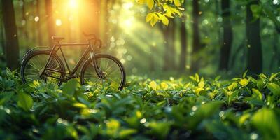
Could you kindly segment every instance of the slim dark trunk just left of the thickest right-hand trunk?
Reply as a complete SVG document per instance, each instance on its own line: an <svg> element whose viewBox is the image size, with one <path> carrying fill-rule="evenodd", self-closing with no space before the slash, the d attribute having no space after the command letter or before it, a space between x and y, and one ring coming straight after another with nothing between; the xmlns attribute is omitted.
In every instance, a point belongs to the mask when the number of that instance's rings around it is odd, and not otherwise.
<svg viewBox="0 0 280 140"><path fill-rule="evenodd" d="M230 0L222 1L223 44L220 51L220 70L228 71L230 50L232 48L232 24L230 21Z"/></svg>

